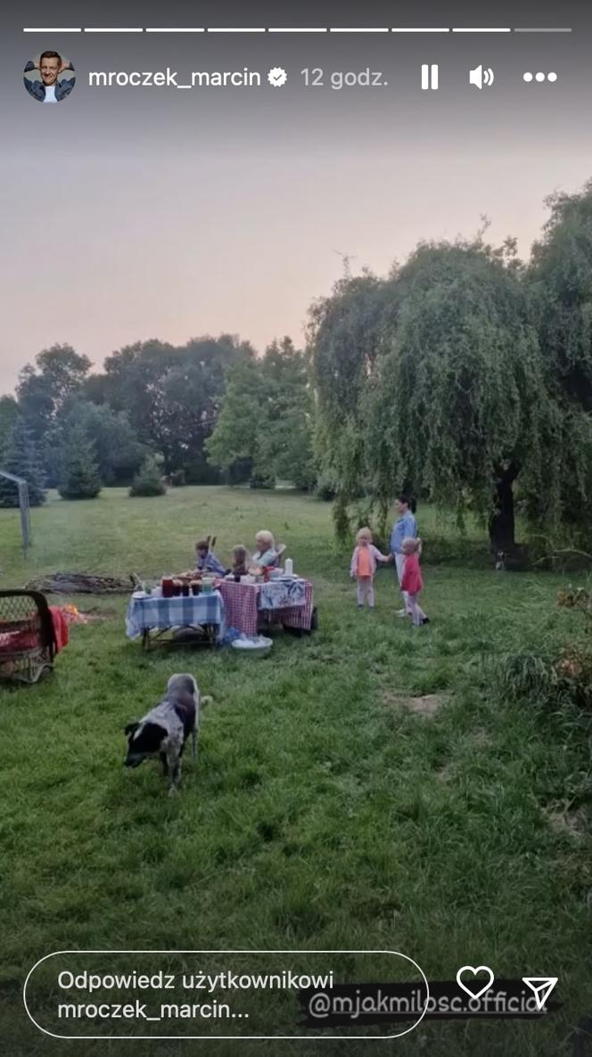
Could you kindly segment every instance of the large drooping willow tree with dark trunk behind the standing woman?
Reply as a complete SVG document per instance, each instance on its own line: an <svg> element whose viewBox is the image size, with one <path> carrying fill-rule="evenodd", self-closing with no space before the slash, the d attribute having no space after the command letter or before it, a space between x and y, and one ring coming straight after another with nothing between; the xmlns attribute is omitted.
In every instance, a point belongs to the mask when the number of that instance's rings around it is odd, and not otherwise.
<svg viewBox="0 0 592 1057"><path fill-rule="evenodd" d="M313 317L320 453L341 504L383 515L405 487L515 543L530 511L560 512L565 414L550 391L513 245L421 245L388 280L344 280ZM338 504L339 505L339 504Z"/></svg>

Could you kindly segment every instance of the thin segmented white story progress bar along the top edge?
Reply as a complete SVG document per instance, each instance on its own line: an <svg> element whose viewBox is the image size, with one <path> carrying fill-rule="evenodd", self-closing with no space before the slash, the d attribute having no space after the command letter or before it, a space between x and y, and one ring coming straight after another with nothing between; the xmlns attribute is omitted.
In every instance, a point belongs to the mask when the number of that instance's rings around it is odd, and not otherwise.
<svg viewBox="0 0 592 1057"><path fill-rule="evenodd" d="M570 26L560 29L550 26L538 26L533 29L522 29L521 26L497 26L486 29L483 26L24 26L23 33L573 33Z"/></svg>

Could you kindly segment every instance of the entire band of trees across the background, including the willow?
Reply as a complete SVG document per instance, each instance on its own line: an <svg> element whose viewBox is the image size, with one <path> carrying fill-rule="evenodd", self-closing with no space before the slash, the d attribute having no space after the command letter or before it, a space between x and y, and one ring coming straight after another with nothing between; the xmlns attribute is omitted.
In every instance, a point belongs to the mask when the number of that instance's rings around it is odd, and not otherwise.
<svg viewBox="0 0 592 1057"><path fill-rule="evenodd" d="M426 242L386 277L345 275L310 310L307 344L262 356L236 336L127 346L91 372L43 350L0 400L2 468L62 495L144 475L273 484L363 502L384 522L404 488L514 545L581 541L592 517L592 181L555 193L531 257L516 242ZM17 455L15 456L15 449ZM21 450L21 455L18 455ZM23 474L22 476L26 476ZM7 490L0 485L0 503ZM33 489L35 492L35 489ZM40 499L39 499L40 501Z"/></svg>

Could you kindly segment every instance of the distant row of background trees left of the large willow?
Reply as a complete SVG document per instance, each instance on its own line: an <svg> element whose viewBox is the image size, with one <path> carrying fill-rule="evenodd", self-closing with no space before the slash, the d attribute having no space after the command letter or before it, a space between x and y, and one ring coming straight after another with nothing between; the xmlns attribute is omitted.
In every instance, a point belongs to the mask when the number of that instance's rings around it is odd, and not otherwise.
<svg viewBox="0 0 592 1057"><path fill-rule="evenodd" d="M29 481L32 504L47 487L92 498L130 482L132 494L156 495L163 480L313 485L308 355L290 338L262 357L232 335L181 347L150 340L112 353L101 372L91 368L55 345L21 370L14 396L0 397L0 469ZM0 481L0 505L17 502Z"/></svg>

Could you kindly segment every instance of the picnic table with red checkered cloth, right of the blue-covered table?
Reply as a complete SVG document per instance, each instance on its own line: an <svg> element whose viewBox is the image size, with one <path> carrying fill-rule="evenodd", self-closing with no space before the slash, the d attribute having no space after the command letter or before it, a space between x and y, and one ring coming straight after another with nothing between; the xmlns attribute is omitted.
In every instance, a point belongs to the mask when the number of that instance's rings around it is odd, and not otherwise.
<svg viewBox="0 0 592 1057"><path fill-rule="evenodd" d="M227 628L256 635L261 625L277 622L311 630L314 591L310 580L286 577L267 583L237 583L228 579L222 580L218 590L224 599Z"/></svg>

